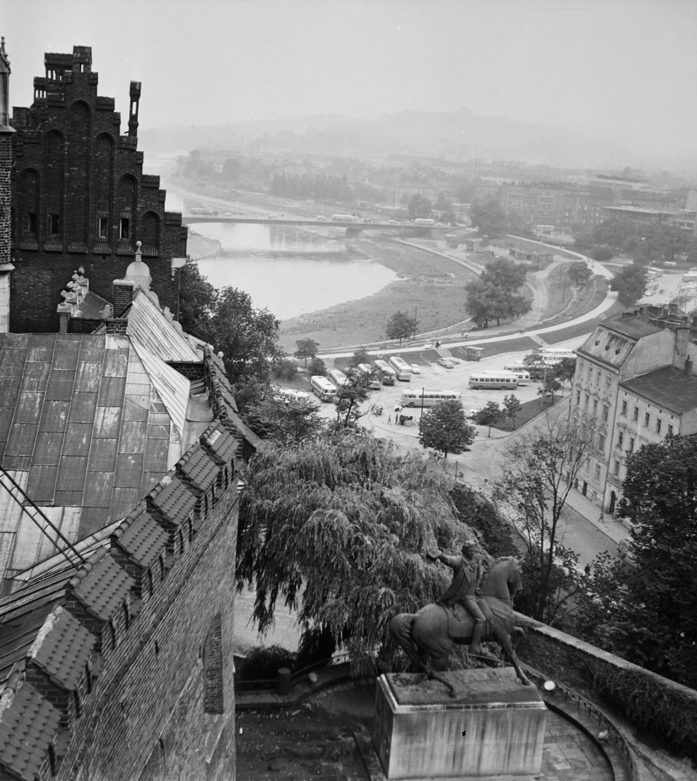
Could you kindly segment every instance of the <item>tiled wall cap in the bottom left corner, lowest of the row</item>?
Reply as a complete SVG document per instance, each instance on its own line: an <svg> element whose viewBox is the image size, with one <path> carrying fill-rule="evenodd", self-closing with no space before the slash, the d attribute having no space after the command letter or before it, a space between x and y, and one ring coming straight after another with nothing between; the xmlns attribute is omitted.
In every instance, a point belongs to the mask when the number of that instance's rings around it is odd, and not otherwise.
<svg viewBox="0 0 697 781"><path fill-rule="evenodd" d="M5 690L0 706L0 763L26 781L38 778L48 746L59 730L60 712L30 683Z"/></svg>

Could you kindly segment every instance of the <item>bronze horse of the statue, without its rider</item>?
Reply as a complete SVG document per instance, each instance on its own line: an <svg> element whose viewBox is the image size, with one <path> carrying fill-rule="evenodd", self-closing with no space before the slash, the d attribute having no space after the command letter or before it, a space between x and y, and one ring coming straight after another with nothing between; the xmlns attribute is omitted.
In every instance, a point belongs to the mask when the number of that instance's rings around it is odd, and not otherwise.
<svg viewBox="0 0 697 781"><path fill-rule="evenodd" d="M496 641L513 665L521 683L529 686L530 681L521 670L515 654L515 647L524 632L514 626L511 590L515 592L521 587L521 564L517 558L497 558L484 573L478 605L486 618L482 640ZM456 644L470 643L473 628L471 618L459 605L453 612L440 604L427 604L418 613L400 613L389 622L389 633L404 648L414 667L444 683L452 696L455 695L450 683L434 671L446 668ZM514 640L511 640L511 635L514 635ZM421 661L420 654L429 656L431 666Z"/></svg>

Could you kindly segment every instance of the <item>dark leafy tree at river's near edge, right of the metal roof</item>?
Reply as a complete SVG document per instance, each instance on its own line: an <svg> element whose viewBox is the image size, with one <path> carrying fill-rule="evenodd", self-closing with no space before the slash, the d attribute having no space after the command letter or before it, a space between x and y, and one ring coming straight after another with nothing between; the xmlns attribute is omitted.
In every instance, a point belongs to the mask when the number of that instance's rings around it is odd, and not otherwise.
<svg viewBox="0 0 697 781"><path fill-rule="evenodd" d="M231 383L255 376L267 380L272 362L283 358L276 344L279 320L268 309L254 309L251 297L236 287L223 287L208 321L209 338L222 351Z"/></svg>

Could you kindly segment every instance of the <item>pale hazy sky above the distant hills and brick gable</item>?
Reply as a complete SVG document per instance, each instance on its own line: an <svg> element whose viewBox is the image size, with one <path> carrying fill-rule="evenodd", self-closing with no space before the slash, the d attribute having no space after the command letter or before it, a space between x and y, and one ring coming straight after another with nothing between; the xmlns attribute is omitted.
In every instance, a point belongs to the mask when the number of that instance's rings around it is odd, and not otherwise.
<svg viewBox="0 0 697 781"><path fill-rule="evenodd" d="M0 34L13 105L91 45L143 129L467 106L697 158L697 0L0 0Z"/></svg>

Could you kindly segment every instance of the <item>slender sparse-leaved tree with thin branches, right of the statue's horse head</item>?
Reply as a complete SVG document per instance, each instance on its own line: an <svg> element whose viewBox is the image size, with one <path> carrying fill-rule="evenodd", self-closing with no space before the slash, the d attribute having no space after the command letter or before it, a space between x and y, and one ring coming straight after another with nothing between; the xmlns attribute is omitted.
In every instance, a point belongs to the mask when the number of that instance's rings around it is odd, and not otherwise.
<svg viewBox="0 0 697 781"><path fill-rule="evenodd" d="M578 590L578 557L560 544L558 527L593 433L592 419L566 420L548 412L506 448L494 489L500 512L515 523L526 547L527 592L517 609L548 624Z"/></svg>

